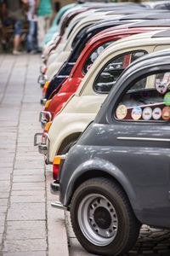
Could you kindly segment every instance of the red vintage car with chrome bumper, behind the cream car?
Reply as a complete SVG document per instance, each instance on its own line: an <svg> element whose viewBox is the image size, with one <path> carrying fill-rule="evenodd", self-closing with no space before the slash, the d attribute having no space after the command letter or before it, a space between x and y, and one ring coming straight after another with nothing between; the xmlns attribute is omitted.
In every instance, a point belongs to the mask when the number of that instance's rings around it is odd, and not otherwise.
<svg viewBox="0 0 170 256"><path fill-rule="evenodd" d="M110 28L99 32L94 38L90 39L72 68L69 77L63 81L61 88L56 90L56 94L53 98L46 102L44 110L40 113L42 127L44 127L48 121L54 119L55 114L59 112L69 97L77 90L78 85L88 72L88 69L107 45L136 33L150 32L159 29L160 26Z"/></svg>

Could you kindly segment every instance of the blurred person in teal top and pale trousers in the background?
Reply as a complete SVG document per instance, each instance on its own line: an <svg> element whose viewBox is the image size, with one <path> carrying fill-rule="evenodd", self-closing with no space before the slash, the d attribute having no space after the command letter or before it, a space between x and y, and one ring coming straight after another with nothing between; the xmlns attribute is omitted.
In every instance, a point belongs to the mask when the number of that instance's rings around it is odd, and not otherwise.
<svg viewBox="0 0 170 256"><path fill-rule="evenodd" d="M51 0L37 0L38 47L42 49L42 41L51 23Z"/></svg>

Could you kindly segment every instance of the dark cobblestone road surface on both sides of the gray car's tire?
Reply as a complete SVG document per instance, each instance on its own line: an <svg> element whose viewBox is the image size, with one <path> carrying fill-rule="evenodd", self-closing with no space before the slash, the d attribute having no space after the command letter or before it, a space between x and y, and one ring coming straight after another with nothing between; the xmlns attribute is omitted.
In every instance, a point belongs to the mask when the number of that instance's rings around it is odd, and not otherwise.
<svg viewBox="0 0 170 256"><path fill-rule="evenodd" d="M87 253L77 241L71 228L71 219L68 212L65 212L65 224L67 226L70 256L93 256L94 254ZM129 253L122 256L170 256L170 230L154 229L143 225L136 245Z"/></svg>

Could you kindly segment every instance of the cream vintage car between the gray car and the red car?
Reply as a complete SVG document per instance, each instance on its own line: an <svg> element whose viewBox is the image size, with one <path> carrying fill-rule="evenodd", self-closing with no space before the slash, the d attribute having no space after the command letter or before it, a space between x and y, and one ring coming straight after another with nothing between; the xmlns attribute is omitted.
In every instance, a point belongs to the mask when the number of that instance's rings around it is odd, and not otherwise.
<svg viewBox="0 0 170 256"><path fill-rule="evenodd" d="M94 120L122 71L144 54L170 48L169 39L169 31L147 32L123 38L99 55L76 93L55 116L48 133L43 134L43 142L38 144L39 152L45 154L46 163L52 163L56 154L62 154L68 145L77 141ZM35 138L36 145L37 136Z"/></svg>

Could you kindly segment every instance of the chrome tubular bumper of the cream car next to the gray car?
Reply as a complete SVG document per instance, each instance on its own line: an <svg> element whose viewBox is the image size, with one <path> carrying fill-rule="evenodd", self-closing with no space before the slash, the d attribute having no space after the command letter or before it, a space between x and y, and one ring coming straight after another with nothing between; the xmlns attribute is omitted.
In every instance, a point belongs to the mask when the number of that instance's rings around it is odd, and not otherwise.
<svg viewBox="0 0 170 256"><path fill-rule="evenodd" d="M43 142L42 142L42 136L43 136ZM38 143L39 141L39 143ZM41 141L41 142L40 142ZM40 154L44 154L46 157L46 163L48 164L49 161L49 136L48 133L36 133L34 135L34 146L38 146L38 151Z"/></svg>

